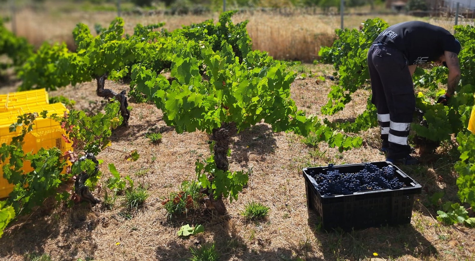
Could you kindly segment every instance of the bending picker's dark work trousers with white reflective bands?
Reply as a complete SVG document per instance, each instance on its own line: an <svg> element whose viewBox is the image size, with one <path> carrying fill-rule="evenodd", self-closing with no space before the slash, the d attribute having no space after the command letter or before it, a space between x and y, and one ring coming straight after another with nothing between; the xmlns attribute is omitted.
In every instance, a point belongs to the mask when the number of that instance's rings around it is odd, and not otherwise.
<svg viewBox="0 0 475 261"><path fill-rule="evenodd" d="M402 159L410 153L408 135L416 108L408 61L399 50L373 44L368 51L368 67L382 146L388 147L388 159Z"/></svg>

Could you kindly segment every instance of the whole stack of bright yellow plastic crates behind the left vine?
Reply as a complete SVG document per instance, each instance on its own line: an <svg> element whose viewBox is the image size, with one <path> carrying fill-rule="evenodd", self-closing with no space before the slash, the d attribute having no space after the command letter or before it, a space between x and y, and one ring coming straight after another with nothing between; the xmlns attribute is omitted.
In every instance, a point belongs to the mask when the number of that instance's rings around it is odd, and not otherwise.
<svg viewBox="0 0 475 261"><path fill-rule="evenodd" d="M12 137L18 136L20 128L15 132L10 132L10 125L15 123L18 116L25 113L37 112L38 115L47 110L47 116L57 114L62 116L69 111L62 103L48 103L48 93L45 89L28 90L20 92L11 92L6 95L0 95L0 144L10 144ZM66 135L57 121L50 118L37 117L33 122L33 130L29 132L24 139L23 151L25 153L37 153L40 148L57 147L63 153L72 151L70 143L62 138ZM3 171L0 163L0 198L8 197L13 190L13 185L3 178ZM33 169L24 162L23 171L32 171Z"/></svg>

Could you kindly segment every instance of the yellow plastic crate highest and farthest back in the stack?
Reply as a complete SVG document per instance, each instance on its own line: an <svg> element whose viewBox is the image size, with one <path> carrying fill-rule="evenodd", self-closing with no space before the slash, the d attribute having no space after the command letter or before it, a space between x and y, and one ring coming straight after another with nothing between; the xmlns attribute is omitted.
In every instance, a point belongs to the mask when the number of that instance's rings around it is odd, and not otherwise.
<svg viewBox="0 0 475 261"><path fill-rule="evenodd" d="M10 92L7 97L7 110L48 104L48 93L45 89Z"/></svg>

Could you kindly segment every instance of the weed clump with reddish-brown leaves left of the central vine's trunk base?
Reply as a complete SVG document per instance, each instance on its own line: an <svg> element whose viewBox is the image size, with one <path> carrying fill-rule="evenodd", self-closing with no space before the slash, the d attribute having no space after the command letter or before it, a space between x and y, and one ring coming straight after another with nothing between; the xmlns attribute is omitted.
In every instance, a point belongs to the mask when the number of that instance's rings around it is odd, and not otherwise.
<svg viewBox="0 0 475 261"><path fill-rule="evenodd" d="M195 180L183 181L180 185L180 192L171 192L167 198L161 202L163 208L172 215L188 213L189 209L197 209L202 194L199 192L201 183Z"/></svg>

